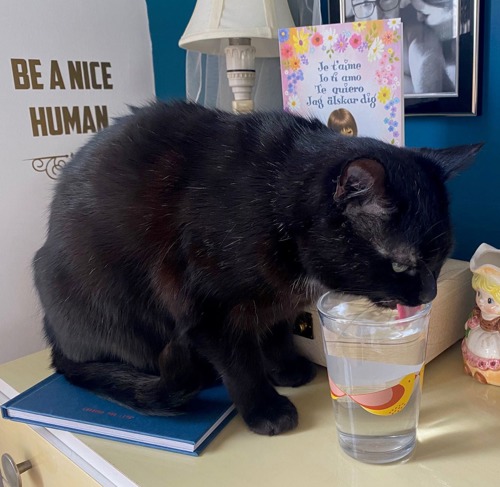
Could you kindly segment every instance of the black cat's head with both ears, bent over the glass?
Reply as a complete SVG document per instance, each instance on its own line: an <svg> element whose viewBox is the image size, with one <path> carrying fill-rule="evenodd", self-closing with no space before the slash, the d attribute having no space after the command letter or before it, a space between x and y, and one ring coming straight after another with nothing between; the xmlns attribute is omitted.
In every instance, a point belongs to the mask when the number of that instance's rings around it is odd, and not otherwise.
<svg viewBox="0 0 500 487"><path fill-rule="evenodd" d="M311 219L309 272L330 289L381 305L431 301L452 248L445 182L473 162L481 145L349 144L354 157L326 176L317 208L323 214Z"/></svg>

